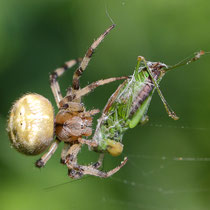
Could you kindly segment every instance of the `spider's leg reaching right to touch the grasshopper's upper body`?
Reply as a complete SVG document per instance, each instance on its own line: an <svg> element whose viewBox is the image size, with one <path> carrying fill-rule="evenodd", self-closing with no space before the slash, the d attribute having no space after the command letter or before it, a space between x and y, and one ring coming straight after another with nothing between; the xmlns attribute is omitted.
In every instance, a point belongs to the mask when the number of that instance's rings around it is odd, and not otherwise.
<svg viewBox="0 0 210 210"><path fill-rule="evenodd" d="M93 91L95 88L97 88L98 86L102 86L102 85L106 85L110 82L114 82L117 80L123 80L123 79L127 79L128 77L112 77L112 78L108 78L108 79L102 79L102 80L98 80L96 82L91 83L90 85L87 85L86 87L78 90L75 92L75 99L81 98L82 96L90 93L91 91Z"/></svg>

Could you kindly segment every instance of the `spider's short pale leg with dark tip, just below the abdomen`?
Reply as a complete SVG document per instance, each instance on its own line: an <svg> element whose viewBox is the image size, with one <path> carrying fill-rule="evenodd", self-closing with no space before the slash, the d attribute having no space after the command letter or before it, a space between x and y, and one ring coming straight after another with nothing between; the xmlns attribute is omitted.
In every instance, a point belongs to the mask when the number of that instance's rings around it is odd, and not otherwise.
<svg viewBox="0 0 210 210"><path fill-rule="evenodd" d="M56 139L50 146L47 153L45 153L39 160L36 161L35 166L38 168L41 168L45 166L47 161L52 157L52 155L55 153L56 149L58 148L60 141Z"/></svg>

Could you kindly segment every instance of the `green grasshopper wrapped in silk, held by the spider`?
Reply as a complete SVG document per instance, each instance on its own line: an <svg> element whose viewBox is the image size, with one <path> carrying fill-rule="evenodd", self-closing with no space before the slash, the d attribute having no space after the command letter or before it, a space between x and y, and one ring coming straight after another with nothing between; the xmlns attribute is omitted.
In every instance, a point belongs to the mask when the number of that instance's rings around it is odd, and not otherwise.
<svg viewBox="0 0 210 210"><path fill-rule="evenodd" d="M109 152L118 156L123 151L122 138L126 130L148 121L147 111L155 90L157 90L169 117L178 117L165 100L159 83L166 72L198 60L204 51L174 65L146 61L139 56L133 75L125 80L108 100L101 118L98 120L93 140L99 152Z"/></svg>

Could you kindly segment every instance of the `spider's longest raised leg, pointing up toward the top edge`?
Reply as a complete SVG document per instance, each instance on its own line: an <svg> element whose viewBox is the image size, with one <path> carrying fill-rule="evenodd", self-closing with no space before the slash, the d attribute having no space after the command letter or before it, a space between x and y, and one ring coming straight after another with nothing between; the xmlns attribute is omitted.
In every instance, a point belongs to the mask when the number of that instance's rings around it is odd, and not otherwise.
<svg viewBox="0 0 210 210"><path fill-rule="evenodd" d="M82 62L80 63L80 66L78 69L74 72L73 75L73 81L72 81L72 88L73 90L79 90L79 78L81 77L82 73L85 71L93 53L94 50L97 48L97 46L103 41L105 36L115 27L115 25L111 25L101 36L98 37L96 41L92 43L92 45L87 50L84 58L82 59Z"/></svg>

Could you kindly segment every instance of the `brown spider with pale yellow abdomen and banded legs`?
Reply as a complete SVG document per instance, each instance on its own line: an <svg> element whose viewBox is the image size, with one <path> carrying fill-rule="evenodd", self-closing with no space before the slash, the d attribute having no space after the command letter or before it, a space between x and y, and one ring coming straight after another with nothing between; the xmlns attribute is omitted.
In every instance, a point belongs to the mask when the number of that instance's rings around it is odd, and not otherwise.
<svg viewBox="0 0 210 210"><path fill-rule="evenodd" d="M79 85L79 79L88 66L94 50L114 27L115 25L110 26L92 43L83 59L70 60L50 75L50 86L59 109L55 117L51 103L41 95L26 94L14 103L10 111L7 129L12 146L21 153L36 155L45 151L51 144L49 150L36 161L36 167L45 166L61 141L64 142L61 163L67 165L68 175L71 178L81 178L87 174L106 178L126 164L127 158L116 168L108 172L101 171L99 168L102 166L103 153L99 155L98 161L94 164L79 165L77 162L78 153L84 144L97 148L96 141L84 137L91 136L92 117L100 112L98 109L86 111L81 98L98 86L127 79L127 77L113 77L98 80L84 88L80 88ZM57 79L77 63L79 63L79 67L73 74L72 86L67 89L66 96L63 97ZM55 141L52 143L53 139ZM116 149L119 148L116 146ZM115 150L114 145L112 145L112 150ZM114 152L113 155L115 155Z"/></svg>

